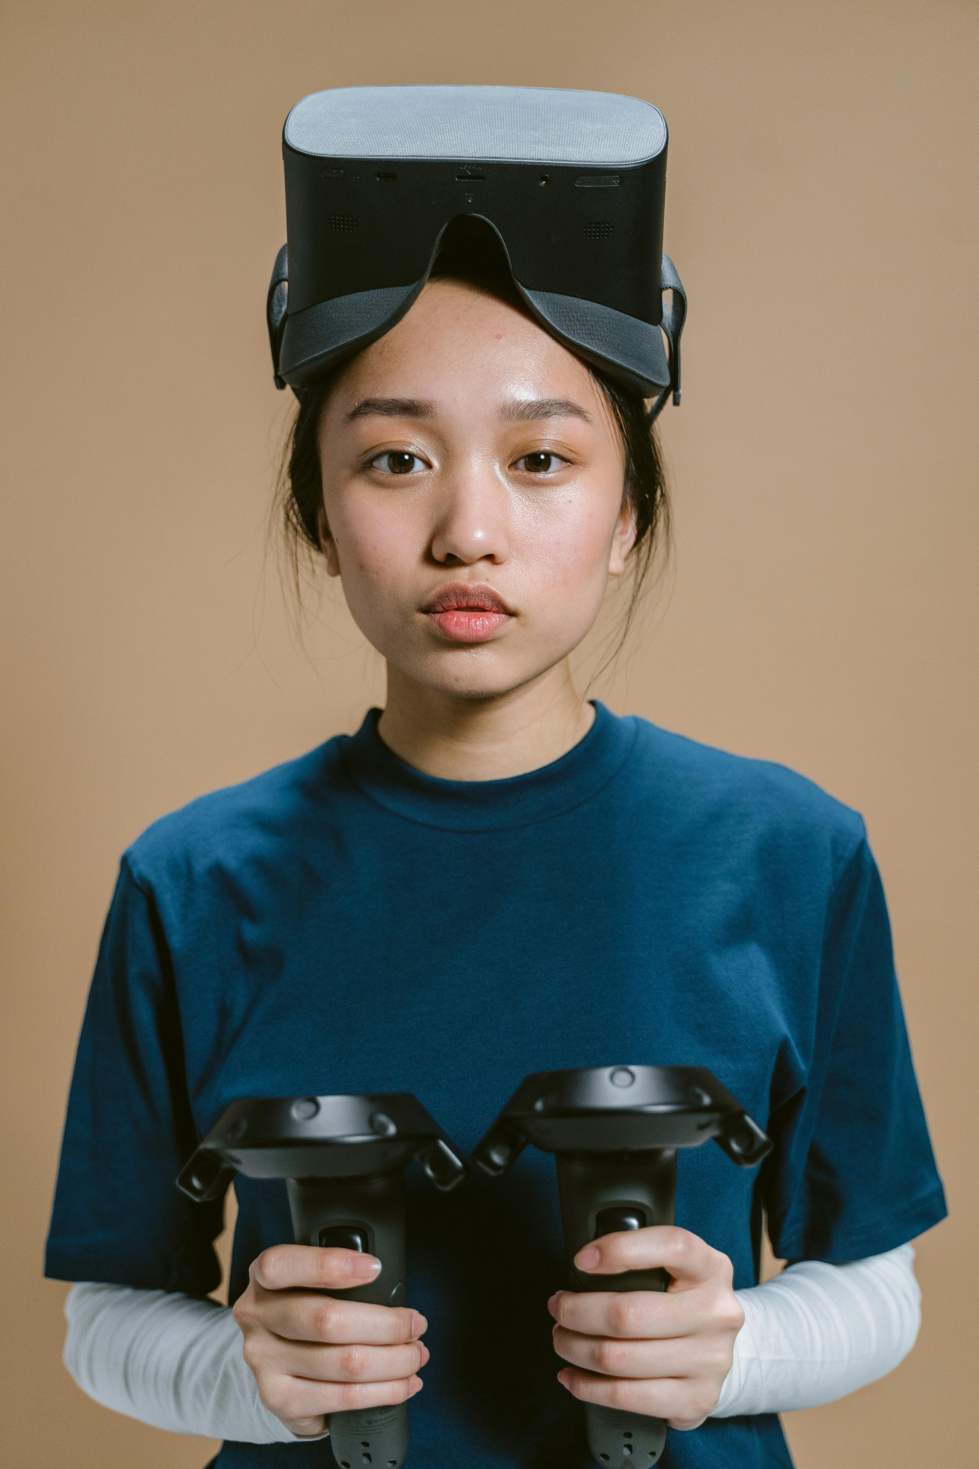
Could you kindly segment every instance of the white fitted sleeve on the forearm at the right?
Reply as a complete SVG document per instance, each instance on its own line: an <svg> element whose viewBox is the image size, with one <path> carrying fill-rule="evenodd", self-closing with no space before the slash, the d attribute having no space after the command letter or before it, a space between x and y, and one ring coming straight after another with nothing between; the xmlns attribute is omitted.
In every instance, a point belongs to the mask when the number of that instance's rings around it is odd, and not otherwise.
<svg viewBox="0 0 979 1469"><path fill-rule="evenodd" d="M735 1291L744 1325L710 1416L819 1407L891 1372L920 1325L913 1262L910 1244L850 1265L800 1260Z"/></svg>

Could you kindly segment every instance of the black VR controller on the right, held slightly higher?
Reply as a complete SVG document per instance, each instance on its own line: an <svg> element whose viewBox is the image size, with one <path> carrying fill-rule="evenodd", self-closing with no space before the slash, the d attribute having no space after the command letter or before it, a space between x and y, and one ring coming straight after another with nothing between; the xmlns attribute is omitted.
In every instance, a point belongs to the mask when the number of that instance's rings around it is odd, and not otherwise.
<svg viewBox="0 0 979 1469"><path fill-rule="evenodd" d="M520 1084L473 1159L499 1177L527 1143L555 1153L571 1288L662 1291L669 1285L666 1271L581 1275L574 1256L603 1234L674 1224L677 1149L709 1137L740 1168L760 1163L772 1147L703 1066L539 1071ZM589 1403L587 1434L599 1465L649 1469L663 1450L666 1425Z"/></svg>

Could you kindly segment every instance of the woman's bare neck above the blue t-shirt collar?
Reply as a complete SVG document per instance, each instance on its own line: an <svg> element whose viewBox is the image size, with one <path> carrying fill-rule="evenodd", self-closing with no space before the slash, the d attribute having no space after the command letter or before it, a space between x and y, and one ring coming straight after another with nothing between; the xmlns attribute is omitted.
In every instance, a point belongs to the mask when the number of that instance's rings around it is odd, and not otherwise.
<svg viewBox="0 0 979 1469"><path fill-rule="evenodd" d="M385 745L442 780L505 780L539 770L584 739L594 710L565 663L520 689L486 699L426 689L387 664Z"/></svg>

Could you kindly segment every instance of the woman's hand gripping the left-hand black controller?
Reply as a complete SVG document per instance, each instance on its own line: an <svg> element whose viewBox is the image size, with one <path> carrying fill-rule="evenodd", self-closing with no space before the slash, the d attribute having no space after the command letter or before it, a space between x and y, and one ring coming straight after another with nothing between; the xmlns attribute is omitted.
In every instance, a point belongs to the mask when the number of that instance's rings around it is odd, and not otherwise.
<svg viewBox="0 0 979 1469"><path fill-rule="evenodd" d="M320 1294L379 1269L373 1255L310 1244L276 1244L252 1260L233 1315L258 1397L291 1432L321 1434L330 1413L404 1403L421 1387L424 1316Z"/></svg>

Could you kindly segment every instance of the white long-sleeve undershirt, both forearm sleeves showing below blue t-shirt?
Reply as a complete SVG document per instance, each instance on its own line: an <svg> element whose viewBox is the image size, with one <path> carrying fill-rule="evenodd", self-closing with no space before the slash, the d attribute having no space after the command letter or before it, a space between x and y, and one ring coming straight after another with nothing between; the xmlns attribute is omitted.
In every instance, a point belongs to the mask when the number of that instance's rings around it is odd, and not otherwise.
<svg viewBox="0 0 979 1469"><path fill-rule="evenodd" d="M737 1291L744 1327L710 1416L816 1407L891 1372L920 1322L913 1260L910 1244L851 1265L803 1260ZM261 1404L226 1306L84 1284L65 1315L65 1365L97 1403L176 1434L308 1443Z"/></svg>

